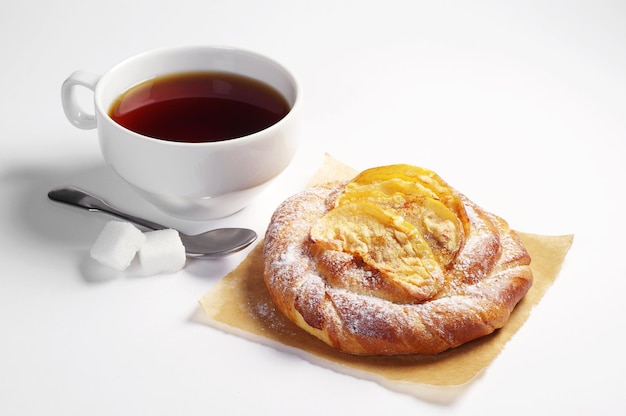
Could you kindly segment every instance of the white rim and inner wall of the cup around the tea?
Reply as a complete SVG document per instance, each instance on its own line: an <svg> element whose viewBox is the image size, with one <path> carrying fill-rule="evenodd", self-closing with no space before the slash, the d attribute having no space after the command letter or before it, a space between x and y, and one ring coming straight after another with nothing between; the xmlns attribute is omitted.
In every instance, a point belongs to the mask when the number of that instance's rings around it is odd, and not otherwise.
<svg viewBox="0 0 626 416"><path fill-rule="evenodd" d="M164 139L159 139L156 137L150 137L150 136L145 136L143 134L137 133L133 130L130 130L124 126L122 126L121 124L117 123L115 120L113 120L111 118L111 116L109 115L108 109L104 108L105 106L103 105L103 98L102 98L102 94L103 94L103 84L102 81L107 81L109 77L113 76L113 74L118 71L120 68L122 68L125 65L128 65L129 63L131 63L132 61L136 61L136 60L140 60L143 59L149 55L155 55L155 54L166 54L166 53L173 53L173 52L193 52L193 51L206 51L206 50L219 50L219 51L235 51L235 52L240 52L240 53L244 53L247 55L251 55L257 59L261 59L261 60L265 60L266 62L271 63L272 65L276 66L277 68L280 68L285 76L287 76L287 78L290 80L290 82L293 85L293 89L294 89L294 100L293 100L293 104L291 105L289 111L287 112L287 114L285 114L285 116L283 118L281 118L280 120L278 120L276 123L272 124L271 126L268 126L262 130L256 131L254 133L245 135L245 136L240 136L240 137L233 137L233 138L229 138L229 139L224 139L224 140L219 140L219 141L212 141L212 142L179 142L179 141L171 141L171 140L164 140ZM123 91L122 91L123 92ZM120 92L120 94L122 93ZM175 146L175 147L188 147L188 146L193 146L193 147L223 147L223 146L233 146L235 144L244 144L247 142L251 142L251 141L255 141L255 140L259 140L263 135L272 132L272 130L275 130L277 128L280 128L280 126L282 124L285 124L289 121L290 118L292 118L292 114L300 107L300 101L301 101L301 91L300 91L300 84L297 80L297 78L295 77L295 75L293 74L292 71L290 71L285 65L283 65L282 63L279 63L278 61L263 55L261 53L249 50L249 49L244 49L244 48L239 48L239 47L234 47L234 46L225 46L225 45L187 45L187 46L169 46L169 47L161 47L161 48L155 48L155 49L151 49L151 50L147 50L144 52L140 52L138 54L132 55L130 57L127 57L126 59L123 59L121 61L119 61L118 63L116 63L115 65L113 65L112 67L110 67L108 70L106 70L103 75L100 77L100 79L98 80L98 83L96 84L96 88L94 91L94 103L95 103L95 107L97 109L97 111L100 113L100 115L102 116L102 118L109 124L111 124L112 126L123 130L126 134L129 134L139 140L145 140L148 142L154 142L154 143L160 143L161 145L165 145L165 146Z"/></svg>

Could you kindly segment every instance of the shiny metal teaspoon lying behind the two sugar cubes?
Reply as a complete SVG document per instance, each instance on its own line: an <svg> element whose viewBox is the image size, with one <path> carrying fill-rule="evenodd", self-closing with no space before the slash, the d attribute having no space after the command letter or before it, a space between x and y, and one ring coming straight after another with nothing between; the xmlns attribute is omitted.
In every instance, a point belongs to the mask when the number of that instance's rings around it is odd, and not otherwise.
<svg viewBox="0 0 626 416"><path fill-rule="evenodd" d="M169 228L126 214L112 207L103 199L74 186L55 188L48 192L48 198L91 212L105 212L151 230ZM187 235L181 232L179 235L185 246L187 256L198 259L218 258L236 253L248 247L257 238L256 233L247 228L217 228L197 235Z"/></svg>

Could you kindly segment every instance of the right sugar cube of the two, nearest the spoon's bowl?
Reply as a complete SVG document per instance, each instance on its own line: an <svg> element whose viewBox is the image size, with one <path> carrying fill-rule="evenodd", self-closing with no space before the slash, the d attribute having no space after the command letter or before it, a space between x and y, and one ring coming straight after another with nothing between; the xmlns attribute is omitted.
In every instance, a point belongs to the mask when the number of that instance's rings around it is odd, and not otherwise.
<svg viewBox="0 0 626 416"><path fill-rule="evenodd" d="M146 241L138 256L143 273L172 273L185 266L186 256L178 231L167 229L144 233Z"/></svg>

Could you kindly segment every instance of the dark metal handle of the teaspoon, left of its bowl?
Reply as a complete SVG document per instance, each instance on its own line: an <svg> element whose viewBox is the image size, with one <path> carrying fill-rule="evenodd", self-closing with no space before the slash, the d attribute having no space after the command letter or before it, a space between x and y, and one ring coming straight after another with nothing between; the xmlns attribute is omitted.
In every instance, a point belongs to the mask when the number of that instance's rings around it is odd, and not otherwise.
<svg viewBox="0 0 626 416"><path fill-rule="evenodd" d="M143 218L126 214L125 212L122 212L112 207L103 199L98 198L97 196L92 195L89 192L79 189L75 186L62 186L60 188L55 188L48 192L48 198L53 201L63 202L68 205L84 208L91 212L106 212L107 214L111 214L130 222L134 222L135 224L141 225L151 230L162 230L164 228L167 228L162 226L161 224L157 224Z"/></svg>

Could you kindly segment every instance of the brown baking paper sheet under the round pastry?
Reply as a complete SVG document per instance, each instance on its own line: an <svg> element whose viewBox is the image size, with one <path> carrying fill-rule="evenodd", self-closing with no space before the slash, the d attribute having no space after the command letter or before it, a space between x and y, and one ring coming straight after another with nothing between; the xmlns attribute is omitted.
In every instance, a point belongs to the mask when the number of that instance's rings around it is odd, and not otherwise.
<svg viewBox="0 0 626 416"><path fill-rule="evenodd" d="M326 156L310 186L350 179L356 172ZM435 402L450 402L500 353L556 279L572 235L518 233L531 258L534 283L507 324L493 334L438 355L360 357L341 353L285 318L263 281L263 242L201 300L208 324L255 341L287 349L333 370L376 381L390 389Z"/></svg>

